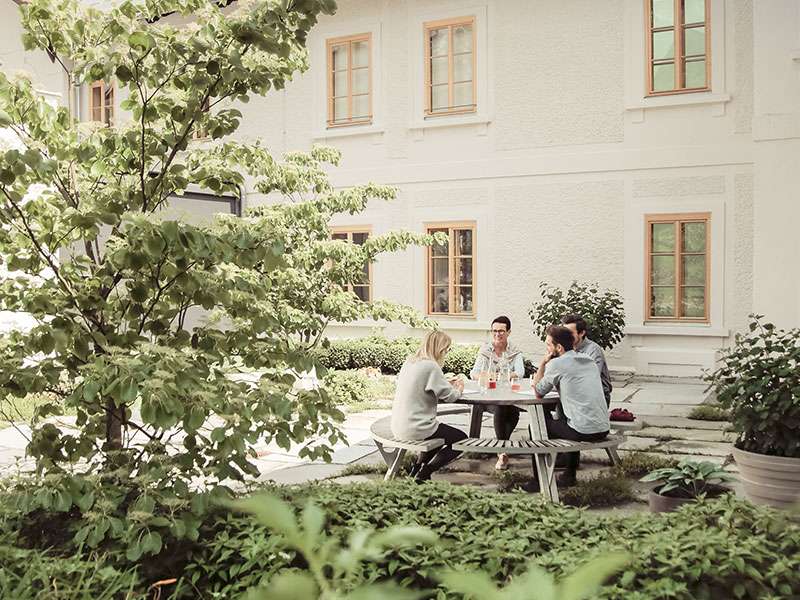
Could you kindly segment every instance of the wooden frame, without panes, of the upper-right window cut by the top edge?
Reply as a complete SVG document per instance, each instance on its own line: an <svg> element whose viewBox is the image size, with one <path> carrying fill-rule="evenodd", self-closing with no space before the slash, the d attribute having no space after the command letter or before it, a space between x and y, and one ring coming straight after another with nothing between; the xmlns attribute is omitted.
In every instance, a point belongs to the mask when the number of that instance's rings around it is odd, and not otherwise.
<svg viewBox="0 0 800 600"><path fill-rule="evenodd" d="M705 0L705 21L702 26L706 30L706 48L705 48L705 62L706 62L706 84L703 87L686 88L684 68L686 56L683 54L683 40L684 30L700 27L699 23L691 23L689 26L683 24L683 0L672 0L673 6L673 22L672 27L656 27L653 28L653 0L644 0L644 19L645 19L645 51L647 53L647 60L645 61L645 81L647 88L645 90L646 96L671 96L673 94L694 94L697 92L710 92L711 91L711 0ZM674 33L674 52L672 56L673 64L675 65L675 79L676 87L671 90L653 90L653 33L659 31L673 30ZM699 56L699 55L693 55ZM666 61L669 62L669 61ZM665 64L666 64L665 62Z"/></svg>

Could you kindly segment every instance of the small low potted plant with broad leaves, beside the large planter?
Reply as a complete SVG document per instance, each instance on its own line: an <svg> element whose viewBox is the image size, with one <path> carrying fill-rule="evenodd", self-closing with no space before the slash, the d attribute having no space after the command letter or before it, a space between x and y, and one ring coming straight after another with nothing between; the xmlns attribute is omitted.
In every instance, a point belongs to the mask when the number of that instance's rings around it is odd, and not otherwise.
<svg viewBox="0 0 800 600"><path fill-rule="evenodd" d="M733 476L712 462L682 460L676 467L651 471L639 481L658 481L650 490L650 512L669 512L698 498L714 498L729 490L721 484Z"/></svg>

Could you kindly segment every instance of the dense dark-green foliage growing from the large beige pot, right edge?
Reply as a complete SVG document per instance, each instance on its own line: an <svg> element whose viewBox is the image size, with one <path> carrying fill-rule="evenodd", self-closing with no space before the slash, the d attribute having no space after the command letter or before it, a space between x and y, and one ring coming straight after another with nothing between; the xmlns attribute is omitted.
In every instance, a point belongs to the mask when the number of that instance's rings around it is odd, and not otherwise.
<svg viewBox="0 0 800 600"><path fill-rule="evenodd" d="M750 331L736 334L705 378L739 432L738 448L800 458L800 328L751 317Z"/></svg>

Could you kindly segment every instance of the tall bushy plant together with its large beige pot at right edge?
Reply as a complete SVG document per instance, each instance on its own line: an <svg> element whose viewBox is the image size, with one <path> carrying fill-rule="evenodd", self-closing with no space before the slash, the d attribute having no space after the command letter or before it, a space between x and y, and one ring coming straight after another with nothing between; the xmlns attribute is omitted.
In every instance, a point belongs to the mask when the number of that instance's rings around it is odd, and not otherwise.
<svg viewBox="0 0 800 600"><path fill-rule="evenodd" d="M745 494L788 507L800 499L800 329L750 317L706 380L739 433L733 457Z"/></svg>

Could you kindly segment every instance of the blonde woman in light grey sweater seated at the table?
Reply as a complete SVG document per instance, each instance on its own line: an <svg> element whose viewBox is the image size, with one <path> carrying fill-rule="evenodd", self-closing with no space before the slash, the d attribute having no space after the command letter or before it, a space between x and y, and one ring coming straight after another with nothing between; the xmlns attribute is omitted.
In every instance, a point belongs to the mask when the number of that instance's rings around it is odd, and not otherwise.
<svg viewBox="0 0 800 600"><path fill-rule="evenodd" d="M461 381L449 382L442 373L444 356L450 349L450 336L432 331L425 336L417 353L406 360L397 376L397 391L392 405L392 434L405 440L443 438L445 445L423 452L411 468L417 482L427 481L431 473L461 454L452 444L467 434L436 419L439 402L455 402L464 391Z"/></svg>

